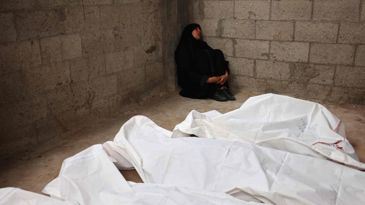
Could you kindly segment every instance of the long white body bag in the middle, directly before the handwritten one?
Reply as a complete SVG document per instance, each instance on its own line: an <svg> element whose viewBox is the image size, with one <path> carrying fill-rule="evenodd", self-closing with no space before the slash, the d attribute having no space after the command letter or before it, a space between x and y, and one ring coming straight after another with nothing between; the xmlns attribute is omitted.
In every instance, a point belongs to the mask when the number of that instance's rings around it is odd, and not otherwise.
<svg viewBox="0 0 365 205"><path fill-rule="evenodd" d="M356 169L253 143L171 139L171 134L147 117L135 116L114 142L103 146L115 159L123 158L118 166L135 167L146 183L280 205L364 204L365 173Z"/></svg>

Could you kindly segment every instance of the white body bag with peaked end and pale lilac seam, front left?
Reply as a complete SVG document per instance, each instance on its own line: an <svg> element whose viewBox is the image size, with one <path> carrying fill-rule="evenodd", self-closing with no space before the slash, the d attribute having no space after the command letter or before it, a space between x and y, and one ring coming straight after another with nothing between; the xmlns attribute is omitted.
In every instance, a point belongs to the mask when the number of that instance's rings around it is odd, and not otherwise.
<svg viewBox="0 0 365 205"><path fill-rule="evenodd" d="M255 205L225 193L194 192L170 185L128 183L100 144L66 159L43 193L80 205Z"/></svg>

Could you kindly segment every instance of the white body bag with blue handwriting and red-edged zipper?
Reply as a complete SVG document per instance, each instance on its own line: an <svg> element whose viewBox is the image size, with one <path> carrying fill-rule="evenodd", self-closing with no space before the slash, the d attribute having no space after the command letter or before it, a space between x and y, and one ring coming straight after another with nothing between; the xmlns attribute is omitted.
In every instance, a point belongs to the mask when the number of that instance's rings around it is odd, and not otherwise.
<svg viewBox="0 0 365 205"><path fill-rule="evenodd" d="M196 135L251 142L296 154L330 159L359 170L354 148L345 126L322 105L277 94L250 97L234 111L192 111L176 125L172 138Z"/></svg>

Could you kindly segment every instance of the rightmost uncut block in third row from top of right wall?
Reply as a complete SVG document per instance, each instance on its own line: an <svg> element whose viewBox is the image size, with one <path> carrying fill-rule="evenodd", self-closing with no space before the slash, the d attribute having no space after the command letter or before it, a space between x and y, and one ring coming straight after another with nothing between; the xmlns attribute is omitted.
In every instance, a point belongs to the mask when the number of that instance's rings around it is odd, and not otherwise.
<svg viewBox="0 0 365 205"><path fill-rule="evenodd" d="M354 60L355 46L338 44L312 44L309 61L311 63L347 64Z"/></svg>

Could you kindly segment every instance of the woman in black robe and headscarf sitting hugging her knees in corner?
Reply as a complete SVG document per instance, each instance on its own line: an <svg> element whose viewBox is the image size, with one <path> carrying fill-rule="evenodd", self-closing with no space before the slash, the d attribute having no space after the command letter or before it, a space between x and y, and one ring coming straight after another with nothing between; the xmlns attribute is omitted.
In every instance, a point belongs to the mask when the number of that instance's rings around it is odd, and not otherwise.
<svg viewBox="0 0 365 205"><path fill-rule="evenodd" d="M177 83L183 97L216 101L236 100L228 90L228 61L221 50L212 49L200 40L199 24L189 24L175 50Z"/></svg>

